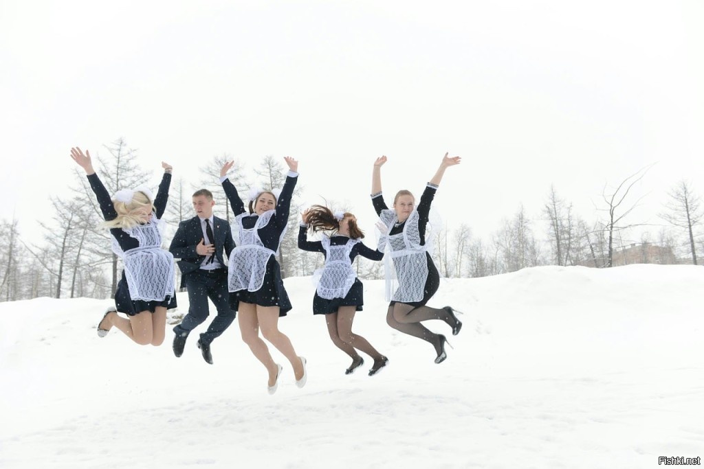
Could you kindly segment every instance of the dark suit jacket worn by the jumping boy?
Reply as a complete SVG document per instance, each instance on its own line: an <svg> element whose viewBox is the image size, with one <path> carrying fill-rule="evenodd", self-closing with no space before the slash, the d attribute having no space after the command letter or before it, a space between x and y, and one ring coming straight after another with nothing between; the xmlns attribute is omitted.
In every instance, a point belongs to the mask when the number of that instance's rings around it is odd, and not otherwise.
<svg viewBox="0 0 704 469"><path fill-rule="evenodd" d="M215 236L215 257L218 262L227 269L227 260L230 258L230 251L234 249L232 231L227 220L213 217L213 236ZM201 262L205 256L196 252L196 245L203 239L203 229L201 229L201 219L193 217L178 224L178 229L174 235L169 252L176 258L183 274L189 274L201 268ZM225 257L222 250L225 249Z"/></svg>

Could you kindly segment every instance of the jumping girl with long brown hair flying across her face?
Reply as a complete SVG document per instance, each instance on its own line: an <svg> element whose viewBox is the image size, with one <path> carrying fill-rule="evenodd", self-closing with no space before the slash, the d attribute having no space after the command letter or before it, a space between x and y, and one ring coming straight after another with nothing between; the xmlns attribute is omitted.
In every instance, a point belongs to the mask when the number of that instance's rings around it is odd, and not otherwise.
<svg viewBox="0 0 704 469"><path fill-rule="evenodd" d="M357 255L372 261L384 257L383 252L367 248L362 243L364 233L357 226L356 217L349 212L333 213L328 207L313 205L301 214L301 227L298 230L298 248L306 251L322 252L325 266L315 271L317 283L313 296L313 314L325 314L327 332L332 343L352 359L345 374L353 373L364 364L357 349L374 359L369 375L375 375L389 361L377 352L361 335L352 333L352 323L356 311L362 311L363 285L352 268ZM308 241L306 232L323 233L322 240Z"/></svg>

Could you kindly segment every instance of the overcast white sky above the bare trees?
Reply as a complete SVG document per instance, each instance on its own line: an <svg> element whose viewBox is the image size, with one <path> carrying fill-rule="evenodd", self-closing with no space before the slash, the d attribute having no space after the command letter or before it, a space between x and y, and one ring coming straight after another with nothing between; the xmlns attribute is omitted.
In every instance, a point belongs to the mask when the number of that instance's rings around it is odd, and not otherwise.
<svg viewBox="0 0 704 469"><path fill-rule="evenodd" d="M189 181L214 155L300 161L306 199L363 226L372 162L479 236L551 184L592 200L656 163L634 221L665 192L704 193L704 5L690 1L0 2L0 217L34 231L70 183L71 146L122 136L144 169ZM168 217L168 214L165 215Z"/></svg>

